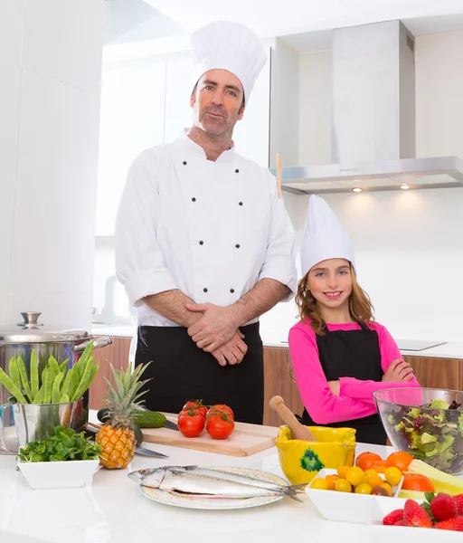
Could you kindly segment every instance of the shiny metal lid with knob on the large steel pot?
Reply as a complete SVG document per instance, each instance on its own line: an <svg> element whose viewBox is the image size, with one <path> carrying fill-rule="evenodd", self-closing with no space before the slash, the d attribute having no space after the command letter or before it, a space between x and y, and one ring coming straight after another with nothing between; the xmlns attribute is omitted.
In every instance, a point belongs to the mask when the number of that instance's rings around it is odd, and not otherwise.
<svg viewBox="0 0 463 543"><path fill-rule="evenodd" d="M80 339L91 339L87 330L60 330L59 327L44 325L39 322L42 313L24 311L21 313L24 322L15 326L0 327L0 345L12 343L67 343Z"/></svg>

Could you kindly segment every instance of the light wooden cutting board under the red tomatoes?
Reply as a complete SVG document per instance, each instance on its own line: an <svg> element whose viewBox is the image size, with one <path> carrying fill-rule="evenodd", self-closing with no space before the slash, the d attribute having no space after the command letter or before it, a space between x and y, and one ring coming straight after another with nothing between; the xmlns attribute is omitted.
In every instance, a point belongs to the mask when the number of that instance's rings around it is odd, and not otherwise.
<svg viewBox="0 0 463 543"><path fill-rule="evenodd" d="M176 424L177 415L165 413ZM182 433L167 428L142 428L143 439L149 443L161 443L197 451L216 452L230 456L250 456L273 447L279 428L260 424L235 423L228 439L213 439L205 430L199 437L184 437Z"/></svg>

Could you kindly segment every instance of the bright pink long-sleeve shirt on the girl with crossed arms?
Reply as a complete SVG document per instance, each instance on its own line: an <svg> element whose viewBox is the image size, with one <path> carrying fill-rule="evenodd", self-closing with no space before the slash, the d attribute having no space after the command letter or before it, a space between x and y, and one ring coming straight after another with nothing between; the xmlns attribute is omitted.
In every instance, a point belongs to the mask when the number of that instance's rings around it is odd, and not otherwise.
<svg viewBox="0 0 463 543"><path fill-rule="evenodd" d="M289 350L299 395L307 413L317 424L349 421L376 413L373 392L393 386L420 386L415 377L407 382L362 381L354 377L341 377L339 395L334 395L326 381L320 363L317 337L307 323L299 321L289 330ZM343 324L326 323L329 331L361 329L356 322ZM402 358L391 334L381 324L374 322L381 352L381 366L385 373L391 362Z"/></svg>

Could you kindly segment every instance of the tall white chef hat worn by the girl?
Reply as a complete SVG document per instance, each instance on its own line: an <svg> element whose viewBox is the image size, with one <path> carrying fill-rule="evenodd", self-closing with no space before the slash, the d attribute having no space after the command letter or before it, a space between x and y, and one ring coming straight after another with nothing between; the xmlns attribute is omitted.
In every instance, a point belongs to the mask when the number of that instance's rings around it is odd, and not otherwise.
<svg viewBox="0 0 463 543"><path fill-rule="evenodd" d="M311 195L300 253L302 276L330 258L344 258L355 267L354 248L343 225L323 198Z"/></svg>

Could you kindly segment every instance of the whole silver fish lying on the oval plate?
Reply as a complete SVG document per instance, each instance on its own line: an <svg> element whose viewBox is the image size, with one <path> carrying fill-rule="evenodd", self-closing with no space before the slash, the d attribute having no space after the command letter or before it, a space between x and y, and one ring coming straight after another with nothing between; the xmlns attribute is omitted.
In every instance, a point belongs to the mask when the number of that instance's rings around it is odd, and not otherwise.
<svg viewBox="0 0 463 543"><path fill-rule="evenodd" d="M302 485L280 485L241 473L213 470L197 466L165 466L131 472L128 477L139 484L178 494L195 494L211 498L255 498L288 496L298 500ZM300 501L300 500L298 500Z"/></svg>

